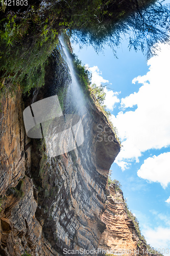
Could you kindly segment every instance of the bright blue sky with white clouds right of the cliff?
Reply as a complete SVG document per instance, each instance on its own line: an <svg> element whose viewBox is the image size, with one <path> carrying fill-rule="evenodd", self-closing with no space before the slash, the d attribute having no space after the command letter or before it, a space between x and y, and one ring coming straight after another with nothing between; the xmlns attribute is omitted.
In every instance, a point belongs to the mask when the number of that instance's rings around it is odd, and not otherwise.
<svg viewBox="0 0 170 256"><path fill-rule="evenodd" d="M122 184L147 242L170 254L170 47L161 45L147 61L140 51L129 51L125 39L118 59L109 47L96 54L92 47L72 46L92 82L111 89L105 89L105 104L123 145L112 179Z"/></svg>

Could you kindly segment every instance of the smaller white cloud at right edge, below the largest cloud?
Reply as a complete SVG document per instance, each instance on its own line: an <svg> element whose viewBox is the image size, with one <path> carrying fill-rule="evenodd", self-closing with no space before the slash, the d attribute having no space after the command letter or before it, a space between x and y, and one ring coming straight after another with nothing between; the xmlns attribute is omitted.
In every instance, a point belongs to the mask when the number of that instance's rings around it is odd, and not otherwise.
<svg viewBox="0 0 170 256"><path fill-rule="evenodd" d="M149 157L137 171L137 175L150 182L160 182L163 188L170 182L170 152L160 154L159 156Z"/></svg>

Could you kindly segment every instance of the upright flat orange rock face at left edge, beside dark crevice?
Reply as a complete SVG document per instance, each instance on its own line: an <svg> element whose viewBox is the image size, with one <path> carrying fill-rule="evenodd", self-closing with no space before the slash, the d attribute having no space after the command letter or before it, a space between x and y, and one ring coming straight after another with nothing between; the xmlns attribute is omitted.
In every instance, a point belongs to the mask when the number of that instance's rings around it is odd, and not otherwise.
<svg viewBox="0 0 170 256"><path fill-rule="evenodd" d="M0 134L0 194L15 186L25 173L22 99L18 92L13 98L2 101Z"/></svg>

